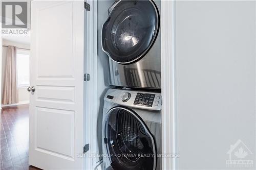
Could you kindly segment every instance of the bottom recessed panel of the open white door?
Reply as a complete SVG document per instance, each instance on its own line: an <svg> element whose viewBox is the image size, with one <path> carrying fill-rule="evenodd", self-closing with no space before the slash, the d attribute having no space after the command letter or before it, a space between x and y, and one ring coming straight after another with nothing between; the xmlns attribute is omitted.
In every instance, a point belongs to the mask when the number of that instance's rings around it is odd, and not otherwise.
<svg viewBox="0 0 256 170"><path fill-rule="evenodd" d="M37 107L35 117L36 149L74 158L74 111Z"/></svg>

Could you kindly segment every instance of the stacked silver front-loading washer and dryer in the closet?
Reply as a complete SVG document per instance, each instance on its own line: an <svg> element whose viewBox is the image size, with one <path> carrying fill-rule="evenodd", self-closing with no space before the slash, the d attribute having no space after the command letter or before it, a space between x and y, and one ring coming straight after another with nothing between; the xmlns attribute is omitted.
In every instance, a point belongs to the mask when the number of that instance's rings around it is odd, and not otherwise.
<svg viewBox="0 0 256 170"><path fill-rule="evenodd" d="M104 96L104 169L161 169L160 1L116 1L102 26L110 85Z"/></svg>

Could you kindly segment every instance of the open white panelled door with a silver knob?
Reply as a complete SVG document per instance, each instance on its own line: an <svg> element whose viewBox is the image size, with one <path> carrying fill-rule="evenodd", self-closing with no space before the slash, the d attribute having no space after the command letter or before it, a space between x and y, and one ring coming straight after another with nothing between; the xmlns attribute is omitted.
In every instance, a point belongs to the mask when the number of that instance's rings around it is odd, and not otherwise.
<svg viewBox="0 0 256 170"><path fill-rule="evenodd" d="M29 164L82 169L83 1L32 1Z"/></svg>

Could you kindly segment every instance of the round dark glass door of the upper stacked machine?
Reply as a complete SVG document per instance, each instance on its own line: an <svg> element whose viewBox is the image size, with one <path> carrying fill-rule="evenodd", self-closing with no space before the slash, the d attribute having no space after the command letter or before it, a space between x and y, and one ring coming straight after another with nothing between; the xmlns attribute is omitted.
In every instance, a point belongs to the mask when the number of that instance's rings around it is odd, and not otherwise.
<svg viewBox="0 0 256 170"><path fill-rule="evenodd" d="M112 60L130 64L153 45L159 14L153 1L119 1L102 27L102 48Z"/></svg>

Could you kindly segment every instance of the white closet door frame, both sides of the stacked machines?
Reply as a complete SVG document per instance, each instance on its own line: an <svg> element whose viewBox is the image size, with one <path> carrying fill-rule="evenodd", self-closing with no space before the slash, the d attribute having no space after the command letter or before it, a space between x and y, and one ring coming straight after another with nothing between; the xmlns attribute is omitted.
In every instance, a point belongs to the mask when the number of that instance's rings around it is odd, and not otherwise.
<svg viewBox="0 0 256 170"><path fill-rule="evenodd" d="M85 111L86 130L90 136L90 151L96 153L97 133L97 0L89 1L86 28L87 73L91 80L86 83ZM175 1L161 1L161 88L162 88L162 169L177 169L176 145L176 69L175 69ZM89 139L89 138L88 138ZM86 169L96 167L96 159L87 159Z"/></svg>

